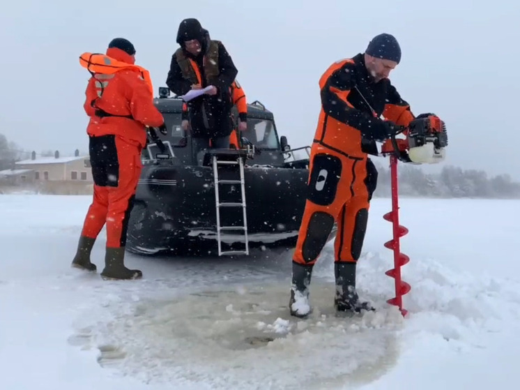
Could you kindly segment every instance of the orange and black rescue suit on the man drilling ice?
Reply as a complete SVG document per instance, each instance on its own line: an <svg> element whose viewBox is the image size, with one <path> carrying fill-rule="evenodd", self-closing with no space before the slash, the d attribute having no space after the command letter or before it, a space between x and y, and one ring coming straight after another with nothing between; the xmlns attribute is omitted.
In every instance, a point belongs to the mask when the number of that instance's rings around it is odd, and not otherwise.
<svg viewBox="0 0 520 390"><path fill-rule="evenodd" d="M319 80L321 111L312 143L308 195L293 262L311 266L334 223L335 262L357 262L365 239L377 171L367 153L384 138L383 114L413 119L390 80L372 82L363 55L333 63Z"/></svg>

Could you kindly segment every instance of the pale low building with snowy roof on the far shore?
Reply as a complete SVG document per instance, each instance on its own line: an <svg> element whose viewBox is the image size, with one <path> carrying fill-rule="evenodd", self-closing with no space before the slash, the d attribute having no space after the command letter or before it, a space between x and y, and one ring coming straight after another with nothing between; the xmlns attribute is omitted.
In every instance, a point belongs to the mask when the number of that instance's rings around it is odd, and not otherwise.
<svg viewBox="0 0 520 390"><path fill-rule="evenodd" d="M76 149L74 156L60 157L59 151L54 156L36 158L31 153L29 160L17 161L13 171L24 170L26 179L31 175L34 181L79 181L93 183L89 156L79 156ZM29 172L30 171L30 172Z"/></svg>

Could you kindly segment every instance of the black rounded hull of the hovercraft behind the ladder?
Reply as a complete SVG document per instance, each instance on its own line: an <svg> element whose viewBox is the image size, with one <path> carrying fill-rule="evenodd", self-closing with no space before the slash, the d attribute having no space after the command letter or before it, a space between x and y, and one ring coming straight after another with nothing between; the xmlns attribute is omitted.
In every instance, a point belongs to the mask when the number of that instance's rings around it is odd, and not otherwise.
<svg viewBox="0 0 520 390"><path fill-rule="evenodd" d="M237 178L236 170L219 179ZM307 195L307 169L244 169L247 241L250 248L296 245ZM220 202L241 202L239 183L219 185ZM215 255L217 207L213 168L161 166L143 168L130 213L126 247L142 255ZM242 207L221 207L221 226L243 226ZM223 250L242 250L244 232L222 232Z"/></svg>

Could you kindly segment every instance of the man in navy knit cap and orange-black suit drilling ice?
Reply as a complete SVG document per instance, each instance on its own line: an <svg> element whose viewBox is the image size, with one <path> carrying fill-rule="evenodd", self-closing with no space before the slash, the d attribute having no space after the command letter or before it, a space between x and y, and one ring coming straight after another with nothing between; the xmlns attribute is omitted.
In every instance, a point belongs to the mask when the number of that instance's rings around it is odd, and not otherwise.
<svg viewBox="0 0 520 390"><path fill-rule="evenodd" d="M334 266L337 311L370 310L355 288L355 268L367 228L377 171L368 153L376 140L414 119L388 76L401 61L394 36L374 37L364 54L333 63L319 80L321 112L312 143L307 202L293 254L291 315L311 312L312 268L337 223ZM381 114L385 120L380 119ZM374 153L375 148L375 153Z"/></svg>

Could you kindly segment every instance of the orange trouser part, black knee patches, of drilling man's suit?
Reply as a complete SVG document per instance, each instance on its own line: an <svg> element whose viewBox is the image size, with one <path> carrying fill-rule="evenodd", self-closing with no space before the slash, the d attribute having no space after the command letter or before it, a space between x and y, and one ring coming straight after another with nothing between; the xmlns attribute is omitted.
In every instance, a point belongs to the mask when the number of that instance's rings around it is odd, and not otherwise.
<svg viewBox="0 0 520 390"><path fill-rule="evenodd" d="M369 158L349 157L314 143L307 201L293 261L314 264L336 223L334 261L357 262L376 183L377 171Z"/></svg>

